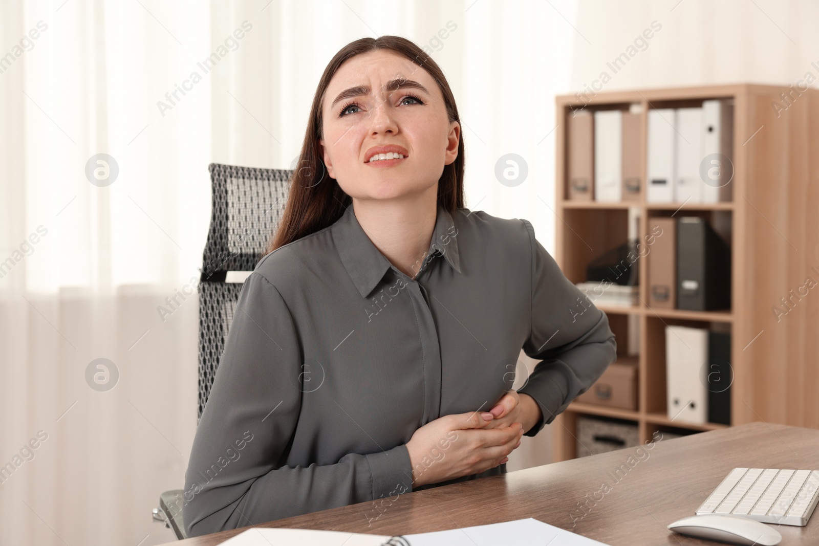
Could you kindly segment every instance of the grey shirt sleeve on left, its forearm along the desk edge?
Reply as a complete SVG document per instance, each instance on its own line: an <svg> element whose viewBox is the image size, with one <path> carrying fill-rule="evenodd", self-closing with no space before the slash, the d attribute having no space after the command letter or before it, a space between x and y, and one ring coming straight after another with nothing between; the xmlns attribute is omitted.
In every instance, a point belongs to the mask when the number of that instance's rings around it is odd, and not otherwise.
<svg viewBox="0 0 819 546"><path fill-rule="evenodd" d="M301 406L301 349L278 289L254 272L244 282L185 474L188 536L405 493L405 444L349 453L337 463L287 467ZM396 483L406 489L396 491Z"/></svg>

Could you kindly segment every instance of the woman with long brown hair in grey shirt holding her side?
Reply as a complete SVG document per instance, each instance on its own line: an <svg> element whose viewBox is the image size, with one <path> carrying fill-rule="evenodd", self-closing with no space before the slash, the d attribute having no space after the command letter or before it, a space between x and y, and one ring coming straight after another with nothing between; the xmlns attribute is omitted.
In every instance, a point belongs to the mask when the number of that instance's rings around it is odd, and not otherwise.
<svg viewBox="0 0 819 546"><path fill-rule="evenodd" d="M615 359L532 225L464 208L455 99L414 43L333 57L301 162L199 422L189 536L503 473ZM515 392L521 348L545 360Z"/></svg>

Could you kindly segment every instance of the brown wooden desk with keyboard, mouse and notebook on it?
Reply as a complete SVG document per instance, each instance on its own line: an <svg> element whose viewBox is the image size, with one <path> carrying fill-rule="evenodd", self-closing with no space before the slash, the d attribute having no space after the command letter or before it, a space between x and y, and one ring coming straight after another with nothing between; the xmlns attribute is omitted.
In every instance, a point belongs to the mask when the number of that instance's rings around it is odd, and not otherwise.
<svg viewBox="0 0 819 546"><path fill-rule="evenodd" d="M666 526L693 516L731 468L819 469L819 430L774 423L753 422L674 440L660 439L651 449L636 449L403 494L391 505L385 503L387 508L369 525L368 517L378 515L371 502L259 526L407 535L534 517L612 546L715 544L672 534ZM601 490L604 482L609 490ZM581 503L587 503L586 512L581 510ZM819 544L816 514L808 526L774 527L782 535L782 546ZM219 544L245 529L169 546Z"/></svg>

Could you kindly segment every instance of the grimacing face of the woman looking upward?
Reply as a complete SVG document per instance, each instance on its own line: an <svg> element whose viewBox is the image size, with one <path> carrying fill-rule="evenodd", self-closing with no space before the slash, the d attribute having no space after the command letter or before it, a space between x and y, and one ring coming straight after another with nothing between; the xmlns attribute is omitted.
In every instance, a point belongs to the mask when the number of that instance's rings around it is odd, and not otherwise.
<svg viewBox="0 0 819 546"><path fill-rule="evenodd" d="M346 61L330 80L322 115L324 165L357 199L424 192L458 156L460 125L449 121L437 83L393 52L377 50ZM404 158L369 161L382 146Z"/></svg>

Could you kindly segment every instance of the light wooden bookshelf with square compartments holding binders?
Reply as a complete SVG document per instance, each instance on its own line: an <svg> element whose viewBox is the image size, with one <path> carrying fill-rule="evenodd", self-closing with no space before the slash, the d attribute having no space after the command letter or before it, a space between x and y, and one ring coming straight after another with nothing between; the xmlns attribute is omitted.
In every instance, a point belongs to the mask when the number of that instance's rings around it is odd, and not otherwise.
<svg viewBox="0 0 819 546"><path fill-rule="evenodd" d="M781 93L790 95L788 102ZM638 409L572 402L552 424L556 461L577 455L578 416L634 422L644 443L654 431L725 427L667 417L667 324L731 332L731 425L764 421L819 428L819 286L808 289L801 299L791 296L791 290L795 293L807 278L819 282L819 90L798 93L786 85L735 84L597 93L583 100L574 95L557 97L554 258L563 273L572 282L586 281L590 259L627 241L630 210L640 216L638 237L643 241L649 217L699 215L728 226L732 309L651 309L645 303L649 300L647 268L645 261L640 263L640 305L599 306L618 334L618 355L627 355L627 343L622 339L627 324L639 323ZM649 109L692 106L705 99L726 97L734 101L733 201L685 205L646 202ZM786 107L776 109L775 103ZM639 104L641 111L640 201L568 201L568 116L578 108L628 110L631 104ZM790 308L781 303L781 298L788 297ZM779 321L775 306L788 311ZM630 315L637 318L629 321ZM771 434L771 442L776 441Z"/></svg>

